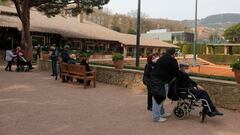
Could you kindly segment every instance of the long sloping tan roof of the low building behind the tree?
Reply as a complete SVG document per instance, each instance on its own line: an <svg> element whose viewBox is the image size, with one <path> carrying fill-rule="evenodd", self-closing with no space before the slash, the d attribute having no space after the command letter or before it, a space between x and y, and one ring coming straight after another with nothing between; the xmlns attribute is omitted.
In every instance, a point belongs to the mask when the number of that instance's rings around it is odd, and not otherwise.
<svg viewBox="0 0 240 135"><path fill-rule="evenodd" d="M16 14L16 9L0 6L0 12ZM56 17L48 18L42 13L32 10L30 23L30 30L32 32L54 33L67 38L118 41L128 46L134 46L136 44L135 35L119 33L88 21L79 23L74 17L63 17L58 15ZM17 16L9 16L0 13L1 27L12 27L21 30L21 25L21 21ZM160 40L151 40L144 38L141 38L141 46L178 48L175 45L165 43Z"/></svg>

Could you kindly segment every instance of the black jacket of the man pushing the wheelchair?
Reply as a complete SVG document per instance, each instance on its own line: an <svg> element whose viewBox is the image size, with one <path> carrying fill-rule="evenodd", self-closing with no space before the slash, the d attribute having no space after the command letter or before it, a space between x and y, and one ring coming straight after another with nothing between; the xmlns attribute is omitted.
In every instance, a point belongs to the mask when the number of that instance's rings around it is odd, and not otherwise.
<svg viewBox="0 0 240 135"><path fill-rule="evenodd" d="M169 54L162 56L151 72L151 79L158 79L164 83L170 83L178 75L178 62Z"/></svg>

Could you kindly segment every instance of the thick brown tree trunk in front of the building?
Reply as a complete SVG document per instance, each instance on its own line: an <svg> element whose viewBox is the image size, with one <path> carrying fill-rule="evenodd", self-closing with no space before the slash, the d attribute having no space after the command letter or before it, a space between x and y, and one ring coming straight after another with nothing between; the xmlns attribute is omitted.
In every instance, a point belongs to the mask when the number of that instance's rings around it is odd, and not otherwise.
<svg viewBox="0 0 240 135"><path fill-rule="evenodd" d="M32 38L30 33L30 4L22 5L22 39L21 47L24 49L25 57L32 60Z"/></svg>

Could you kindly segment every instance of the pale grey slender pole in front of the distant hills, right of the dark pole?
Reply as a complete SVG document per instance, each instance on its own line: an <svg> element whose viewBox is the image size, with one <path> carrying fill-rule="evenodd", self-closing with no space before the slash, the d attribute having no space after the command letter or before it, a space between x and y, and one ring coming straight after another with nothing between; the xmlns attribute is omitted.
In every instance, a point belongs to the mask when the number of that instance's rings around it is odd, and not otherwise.
<svg viewBox="0 0 240 135"><path fill-rule="evenodd" d="M194 45L193 45L193 66L197 65L197 54L196 54L196 45L197 45L197 11L198 11L198 0L196 0L195 7L195 32L194 32Z"/></svg>

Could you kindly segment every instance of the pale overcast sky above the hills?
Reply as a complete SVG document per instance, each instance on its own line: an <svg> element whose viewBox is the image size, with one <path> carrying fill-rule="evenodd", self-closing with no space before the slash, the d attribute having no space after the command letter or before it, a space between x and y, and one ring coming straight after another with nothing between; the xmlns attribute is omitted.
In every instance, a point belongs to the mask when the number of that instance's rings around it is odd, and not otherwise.
<svg viewBox="0 0 240 135"><path fill-rule="evenodd" d="M105 7L114 13L137 9L138 0L110 0ZM198 0L198 17L219 13L240 13L240 0ZM153 18L193 19L195 0L142 0L142 12Z"/></svg>

